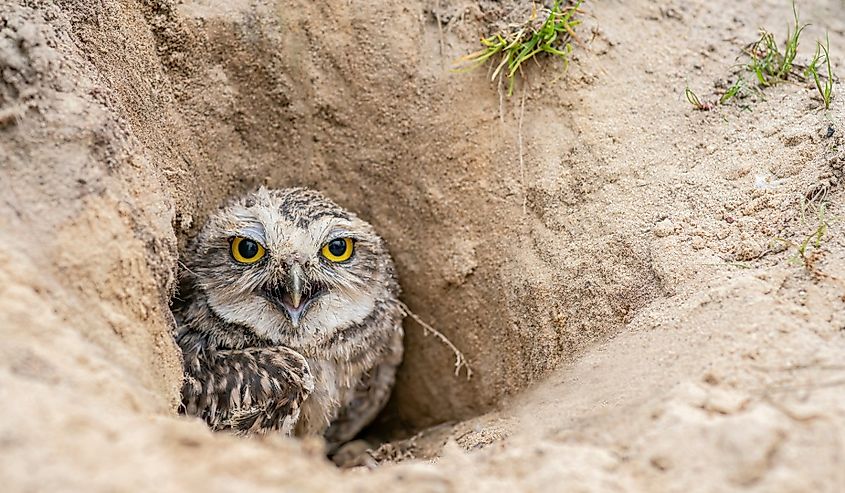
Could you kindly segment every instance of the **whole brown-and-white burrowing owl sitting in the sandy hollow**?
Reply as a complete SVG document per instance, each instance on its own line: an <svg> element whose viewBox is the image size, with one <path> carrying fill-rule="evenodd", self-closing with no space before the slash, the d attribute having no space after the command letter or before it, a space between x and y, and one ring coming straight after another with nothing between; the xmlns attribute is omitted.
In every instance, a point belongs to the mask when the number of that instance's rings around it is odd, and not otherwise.
<svg viewBox="0 0 845 493"><path fill-rule="evenodd" d="M384 241L355 214L312 190L262 188L211 217L184 274L186 414L334 447L384 406L404 312Z"/></svg>

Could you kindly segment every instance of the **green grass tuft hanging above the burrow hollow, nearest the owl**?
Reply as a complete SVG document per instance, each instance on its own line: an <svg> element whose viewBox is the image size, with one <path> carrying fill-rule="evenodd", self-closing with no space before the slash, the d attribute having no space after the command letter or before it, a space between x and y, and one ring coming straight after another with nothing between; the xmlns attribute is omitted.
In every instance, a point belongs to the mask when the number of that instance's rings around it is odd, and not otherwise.
<svg viewBox="0 0 845 493"><path fill-rule="evenodd" d="M458 64L468 64L465 68L472 70L488 60L496 60L498 63L491 80L507 79L508 96L513 94L516 73L521 73L523 63L536 55L547 53L561 58L566 64L572 52L570 40L577 41L573 28L581 21L573 17L579 12L581 2L568 6L561 4L557 0L551 9L541 9L546 14L542 22L538 11L534 9L525 23L512 26L509 32L482 38L483 48L460 58Z"/></svg>

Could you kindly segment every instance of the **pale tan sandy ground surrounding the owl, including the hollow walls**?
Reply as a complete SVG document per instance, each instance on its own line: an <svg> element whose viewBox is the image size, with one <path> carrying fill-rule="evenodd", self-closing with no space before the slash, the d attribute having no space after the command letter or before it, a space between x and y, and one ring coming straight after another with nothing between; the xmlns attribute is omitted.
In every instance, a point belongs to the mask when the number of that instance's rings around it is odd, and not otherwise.
<svg viewBox="0 0 845 493"><path fill-rule="evenodd" d="M4 490L845 490L845 98L683 96L788 3L588 2L569 71L500 99L450 66L510 5L0 5ZM845 3L799 7L799 59L827 31L844 71ZM259 184L376 225L468 356L454 377L407 323L373 433L422 432L411 459L339 470L176 415L180 249ZM776 239L818 227L808 197L829 229L796 263Z"/></svg>

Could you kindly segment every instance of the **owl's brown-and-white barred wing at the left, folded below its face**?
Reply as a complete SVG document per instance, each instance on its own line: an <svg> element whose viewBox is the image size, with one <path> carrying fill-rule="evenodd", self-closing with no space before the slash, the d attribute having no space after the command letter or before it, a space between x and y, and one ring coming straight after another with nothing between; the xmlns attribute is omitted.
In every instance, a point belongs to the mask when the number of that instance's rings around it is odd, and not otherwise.
<svg viewBox="0 0 845 493"><path fill-rule="evenodd" d="M214 430L290 434L314 390L305 358L286 347L186 352L182 407Z"/></svg>

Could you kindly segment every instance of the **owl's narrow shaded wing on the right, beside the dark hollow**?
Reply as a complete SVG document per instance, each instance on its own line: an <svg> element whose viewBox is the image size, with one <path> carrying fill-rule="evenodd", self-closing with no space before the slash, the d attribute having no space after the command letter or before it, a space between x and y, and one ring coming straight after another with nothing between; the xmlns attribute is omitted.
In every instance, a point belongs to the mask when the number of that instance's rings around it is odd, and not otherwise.
<svg viewBox="0 0 845 493"><path fill-rule="evenodd" d="M340 409L337 418L325 432L331 452L355 438L387 404L396 381L396 369L402 362L401 328L391 339L387 354L381 362L367 372L352 391L348 403Z"/></svg>

